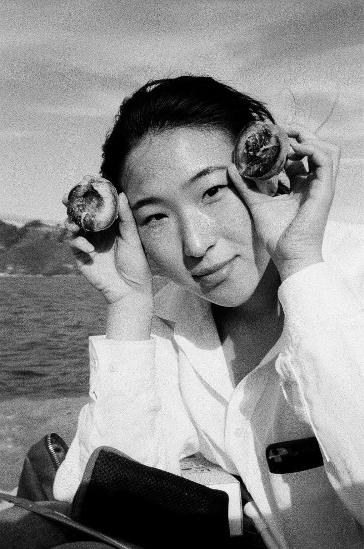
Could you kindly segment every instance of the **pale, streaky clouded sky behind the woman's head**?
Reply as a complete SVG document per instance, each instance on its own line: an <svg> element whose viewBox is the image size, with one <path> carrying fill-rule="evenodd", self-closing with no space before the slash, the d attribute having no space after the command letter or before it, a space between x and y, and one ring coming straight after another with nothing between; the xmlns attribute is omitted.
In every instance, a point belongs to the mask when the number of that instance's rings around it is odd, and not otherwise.
<svg viewBox="0 0 364 549"><path fill-rule="evenodd" d="M0 219L63 223L122 100L189 72L339 144L330 215L364 223L363 31L351 0L0 0Z"/></svg>

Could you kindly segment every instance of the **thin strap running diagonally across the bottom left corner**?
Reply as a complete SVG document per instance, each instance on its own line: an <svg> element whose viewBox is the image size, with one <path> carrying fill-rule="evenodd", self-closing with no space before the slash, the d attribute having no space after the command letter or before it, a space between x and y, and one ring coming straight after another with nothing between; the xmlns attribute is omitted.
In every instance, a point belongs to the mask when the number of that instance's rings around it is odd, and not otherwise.
<svg viewBox="0 0 364 549"><path fill-rule="evenodd" d="M54 522L64 524L65 526L69 526L74 530L78 530L84 534L95 537L95 539L103 541L104 543L111 545L111 547L116 547L117 549L140 549L140 547L137 545L125 541L115 540L112 537L106 536L105 534L94 530L93 528L89 528L89 526L84 526L83 524L76 522L76 520L71 519L70 517L63 513L60 513L59 511L55 511L54 509L51 509L49 507L39 505L39 503L36 501L25 500L23 497L12 496L10 494L5 494L4 492L0 492L0 500L14 503L14 505L22 507L27 511L39 514L42 517L53 520Z"/></svg>

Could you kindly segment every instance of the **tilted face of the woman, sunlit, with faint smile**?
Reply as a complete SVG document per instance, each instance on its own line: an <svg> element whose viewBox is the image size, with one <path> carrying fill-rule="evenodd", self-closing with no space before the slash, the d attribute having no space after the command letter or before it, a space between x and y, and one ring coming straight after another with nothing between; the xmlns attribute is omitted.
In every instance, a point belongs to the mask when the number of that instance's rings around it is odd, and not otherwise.
<svg viewBox="0 0 364 549"><path fill-rule="evenodd" d="M158 272L223 306L249 299L269 261L228 177L232 150L219 131L166 131L131 151L120 179Z"/></svg>

